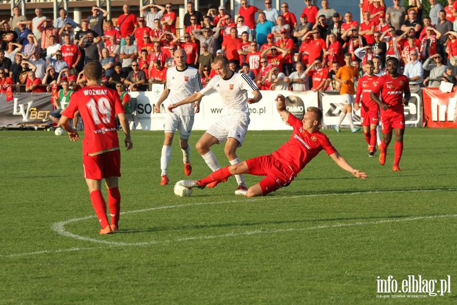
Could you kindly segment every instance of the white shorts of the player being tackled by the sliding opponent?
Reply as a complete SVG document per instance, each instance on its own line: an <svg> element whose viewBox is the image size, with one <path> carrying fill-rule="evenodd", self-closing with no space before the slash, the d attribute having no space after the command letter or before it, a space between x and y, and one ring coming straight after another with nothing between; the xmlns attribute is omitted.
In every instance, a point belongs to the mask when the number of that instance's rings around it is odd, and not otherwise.
<svg viewBox="0 0 457 305"><path fill-rule="evenodd" d="M224 115L211 125L206 133L215 137L219 144L227 140L227 138L235 138L240 142L240 145L238 145L240 147L243 144L250 121L248 116Z"/></svg>

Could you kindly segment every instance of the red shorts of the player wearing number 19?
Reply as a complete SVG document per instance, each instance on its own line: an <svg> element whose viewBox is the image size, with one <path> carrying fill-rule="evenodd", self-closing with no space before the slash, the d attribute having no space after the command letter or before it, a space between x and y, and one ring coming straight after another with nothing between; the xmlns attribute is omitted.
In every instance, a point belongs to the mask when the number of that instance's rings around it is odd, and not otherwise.
<svg viewBox="0 0 457 305"><path fill-rule="evenodd" d="M84 178L101 180L120 177L120 150L108 151L96 156L83 156Z"/></svg>

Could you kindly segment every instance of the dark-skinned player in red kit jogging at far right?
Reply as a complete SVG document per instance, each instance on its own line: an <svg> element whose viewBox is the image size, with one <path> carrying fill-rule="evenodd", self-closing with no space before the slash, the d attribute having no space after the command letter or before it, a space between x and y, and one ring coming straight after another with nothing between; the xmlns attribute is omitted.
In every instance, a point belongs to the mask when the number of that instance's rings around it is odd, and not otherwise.
<svg viewBox="0 0 457 305"><path fill-rule="evenodd" d="M370 97L381 108L381 129L383 140L379 163L385 164L387 146L392 139L392 129L395 131L395 157L393 171L399 171L398 164L403 153L403 134L405 133L404 106L408 106L411 92L409 91L409 79L398 73L398 59L388 57L386 59L386 74L379 77L378 86L370 93ZM382 102L377 94L381 92ZM403 93L405 97L403 98Z"/></svg>

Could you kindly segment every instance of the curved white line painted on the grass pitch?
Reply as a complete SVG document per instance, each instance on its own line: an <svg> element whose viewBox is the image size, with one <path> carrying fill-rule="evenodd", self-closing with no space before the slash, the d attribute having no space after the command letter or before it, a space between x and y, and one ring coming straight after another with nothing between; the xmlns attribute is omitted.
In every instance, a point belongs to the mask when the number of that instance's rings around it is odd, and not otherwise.
<svg viewBox="0 0 457 305"><path fill-rule="evenodd" d="M396 192L435 192L435 191L455 191L457 189L443 189L443 190L409 190L409 191L375 191L375 192L352 192L352 193L341 193L341 194L311 194L311 195L297 195L297 196L288 196L282 197L283 199L291 199L291 198L300 198L300 197L316 197L316 196L341 196L341 195L358 195L358 194L373 194L373 193L396 193ZM198 205L212 205L212 204L224 204L224 203L233 203L233 202L246 202L246 201L258 201L258 200L270 200L270 199L277 199L273 196L271 197L262 197L262 198L255 198L255 199L244 199L244 200L227 200L221 202L200 202L200 203L188 203L188 204L179 204L179 205L169 205L169 206L160 206L160 207L152 207L147 209L140 209L140 210L132 210L132 211L125 211L121 212L121 214L132 214L138 212L146 212L151 210L157 209L168 209L168 208L179 208L179 207L186 207L186 206L198 206ZM47 254L47 253L62 253L62 252L73 252L73 251L87 251L87 250L94 250L100 249L105 247L124 247L124 246L148 246L148 245L156 245L159 243L170 243L170 242L180 242L180 241L190 241L190 240L203 240L203 239L214 239L214 238L224 238L224 237L233 237L233 236L248 236L253 234L261 234L261 233L282 233L282 232L293 232L293 231L304 231L304 230L315 230L315 229L328 229L328 228L339 228L339 227L350 227L350 226L363 226L363 225L376 225L376 224L385 224L385 223L398 223L398 222L405 222L405 221L416 221L416 220L428 220L428 219L438 219L438 218L449 218L449 217L457 217L457 214L447 214L447 215L433 215L433 216L418 216L412 218L404 218L404 219L395 219L395 220L380 220L375 222L356 222L356 223L339 223L334 225L322 225L322 226L314 226L314 227L307 227L307 228L288 228L288 229L276 229L276 230L255 230L255 231L246 231L240 233L227 233L222 235L208 235L208 236L195 236L195 237L183 237L183 238L175 238L170 240L151 240L145 242L114 242L114 241L107 241L107 240L100 240L85 236L80 236L68 232L64 229L64 226L72 223L78 222L82 220L87 220L91 218L95 218L95 216L87 216L82 218L74 218L63 222L58 222L53 225L53 230L56 231L59 235L71 237L74 239L84 240L84 241L91 241L99 244L103 244L103 247L89 247L89 248L69 248L69 249L61 249L61 250L43 250L43 251L36 251L36 252L28 252L28 253L16 253L16 254L9 254L9 255L0 255L0 257L18 257L18 256L26 256L26 255L37 255L37 254Z"/></svg>

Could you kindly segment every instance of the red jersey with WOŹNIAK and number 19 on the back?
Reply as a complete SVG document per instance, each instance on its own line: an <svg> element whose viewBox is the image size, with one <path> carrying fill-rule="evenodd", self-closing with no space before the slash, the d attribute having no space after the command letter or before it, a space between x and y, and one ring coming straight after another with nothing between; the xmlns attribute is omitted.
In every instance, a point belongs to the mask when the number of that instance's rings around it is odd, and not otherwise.
<svg viewBox="0 0 457 305"><path fill-rule="evenodd" d="M83 156L119 147L116 114L125 113L116 90L89 85L75 92L63 115L73 118L76 110L84 121Z"/></svg>

